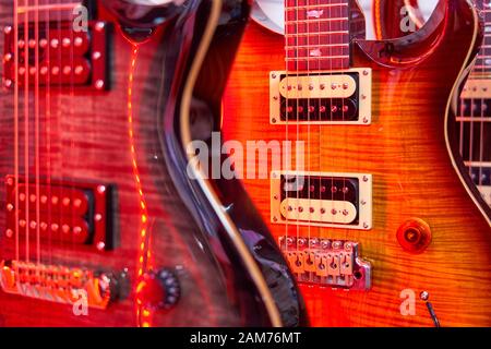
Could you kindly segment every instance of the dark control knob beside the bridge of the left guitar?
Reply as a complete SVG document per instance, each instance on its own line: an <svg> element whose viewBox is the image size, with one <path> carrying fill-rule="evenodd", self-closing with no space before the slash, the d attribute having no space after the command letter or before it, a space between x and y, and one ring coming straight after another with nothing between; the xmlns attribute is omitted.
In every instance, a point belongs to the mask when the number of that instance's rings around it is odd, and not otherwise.
<svg viewBox="0 0 491 349"><path fill-rule="evenodd" d="M179 280L170 269L146 272L136 287L136 302L147 309L167 310L180 298Z"/></svg>

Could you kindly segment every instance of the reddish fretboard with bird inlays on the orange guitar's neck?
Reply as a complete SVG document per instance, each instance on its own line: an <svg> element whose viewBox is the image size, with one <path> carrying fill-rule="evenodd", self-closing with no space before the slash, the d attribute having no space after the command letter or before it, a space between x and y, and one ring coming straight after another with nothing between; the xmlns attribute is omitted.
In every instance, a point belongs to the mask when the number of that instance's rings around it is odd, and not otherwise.
<svg viewBox="0 0 491 349"><path fill-rule="evenodd" d="M349 68L349 0L285 0L287 70Z"/></svg>

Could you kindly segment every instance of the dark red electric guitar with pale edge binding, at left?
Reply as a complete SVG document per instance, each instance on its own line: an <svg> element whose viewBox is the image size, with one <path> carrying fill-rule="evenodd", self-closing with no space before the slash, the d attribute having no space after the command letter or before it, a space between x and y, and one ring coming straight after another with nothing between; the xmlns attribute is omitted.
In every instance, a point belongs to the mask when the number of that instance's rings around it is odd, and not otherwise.
<svg viewBox="0 0 491 349"><path fill-rule="evenodd" d="M219 185L187 172L182 136L215 118L199 72L226 50L226 76L248 11L0 1L1 326L301 322L295 280L247 196L235 219ZM215 93L220 83L207 81Z"/></svg>

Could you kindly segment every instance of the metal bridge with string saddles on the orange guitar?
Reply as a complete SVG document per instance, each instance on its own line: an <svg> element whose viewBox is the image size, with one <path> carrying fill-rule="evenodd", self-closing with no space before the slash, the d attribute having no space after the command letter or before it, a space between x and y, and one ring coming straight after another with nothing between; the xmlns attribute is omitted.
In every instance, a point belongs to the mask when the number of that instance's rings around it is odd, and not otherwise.
<svg viewBox="0 0 491 349"><path fill-rule="evenodd" d="M299 282L350 290L371 287L371 264L354 241L280 237L279 246Z"/></svg>

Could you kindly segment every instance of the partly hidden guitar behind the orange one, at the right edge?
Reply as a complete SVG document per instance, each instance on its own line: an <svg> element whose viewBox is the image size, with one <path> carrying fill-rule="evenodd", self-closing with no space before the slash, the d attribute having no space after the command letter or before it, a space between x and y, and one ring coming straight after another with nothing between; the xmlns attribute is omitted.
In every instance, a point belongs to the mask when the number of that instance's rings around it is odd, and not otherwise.
<svg viewBox="0 0 491 349"><path fill-rule="evenodd" d="M412 1L410 5L405 1L374 1L374 11L379 15L374 19L379 38L400 37L407 33L400 32L400 25L388 22L387 19L398 17L393 9L406 5L407 13L416 20L417 26L423 22L418 2ZM447 134L455 161L469 186L471 195L475 196L479 205L483 207L487 215L491 215L491 123L488 108L490 97L488 84L491 80L488 41L491 40L489 23L491 15L489 9L484 8L483 1L474 1L476 8L484 19L484 40L477 56L476 62L470 71L469 79L459 86L455 95L454 111L455 117L448 120ZM476 190L477 188L477 190Z"/></svg>

